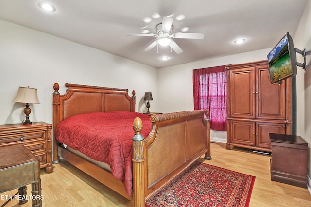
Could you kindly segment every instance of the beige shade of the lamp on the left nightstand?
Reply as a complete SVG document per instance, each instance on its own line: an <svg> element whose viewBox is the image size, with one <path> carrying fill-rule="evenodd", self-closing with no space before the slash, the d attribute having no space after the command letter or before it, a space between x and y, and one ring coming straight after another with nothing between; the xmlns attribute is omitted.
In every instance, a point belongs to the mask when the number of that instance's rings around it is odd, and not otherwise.
<svg viewBox="0 0 311 207"><path fill-rule="evenodd" d="M13 102L17 103L40 103L38 99L37 89L36 88L26 88L19 87L17 95L15 96Z"/></svg>

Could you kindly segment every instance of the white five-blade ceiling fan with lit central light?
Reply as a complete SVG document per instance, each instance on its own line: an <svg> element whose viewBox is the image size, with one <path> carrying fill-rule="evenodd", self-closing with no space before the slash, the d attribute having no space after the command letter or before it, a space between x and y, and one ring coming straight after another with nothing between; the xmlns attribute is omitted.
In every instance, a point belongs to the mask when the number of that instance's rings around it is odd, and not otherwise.
<svg viewBox="0 0 311 207"><path fill-rule="evenodd" d="M156 26L157 34L127 34L128 36L140 36L140 37L156 37L156 40L151 43L144 51L147 52L154 48L157 44L162 46L170 46L177 54L183 52L183 50L173 41L172 38L179 39L203 39L202 33L172 33L173 18L164 16L162 23Z"/></svg>

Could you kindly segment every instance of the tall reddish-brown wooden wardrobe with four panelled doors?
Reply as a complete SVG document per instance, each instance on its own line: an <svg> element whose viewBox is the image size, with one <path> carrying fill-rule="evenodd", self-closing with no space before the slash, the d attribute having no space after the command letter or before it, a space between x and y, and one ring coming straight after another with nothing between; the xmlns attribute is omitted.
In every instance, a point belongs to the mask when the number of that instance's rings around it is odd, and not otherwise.
<svg viewBox="0 0 311 207"><path fill-rule="evenodd" d="M291 79L271 84L268 61L226 65L227 144L271 152L269 133L291 133Z"/></svg>

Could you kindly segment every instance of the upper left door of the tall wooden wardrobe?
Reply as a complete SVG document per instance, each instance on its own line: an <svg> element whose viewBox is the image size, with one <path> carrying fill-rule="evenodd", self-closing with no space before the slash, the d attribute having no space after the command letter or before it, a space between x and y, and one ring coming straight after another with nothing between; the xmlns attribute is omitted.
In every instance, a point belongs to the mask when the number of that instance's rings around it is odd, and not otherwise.
<svg viewBox="0 0 311 207"><path fill-rule="evenodd" d="M230 117L255 118L255 67L230 70Z"/></svg>

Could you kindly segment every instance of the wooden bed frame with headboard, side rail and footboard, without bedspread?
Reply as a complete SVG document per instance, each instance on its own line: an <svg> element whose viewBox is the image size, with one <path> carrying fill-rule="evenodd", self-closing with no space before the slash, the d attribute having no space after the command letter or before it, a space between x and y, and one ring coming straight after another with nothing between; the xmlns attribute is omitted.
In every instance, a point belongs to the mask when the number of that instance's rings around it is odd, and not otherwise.
<svg viewBox="0 0 311 207"><path fill-rule="evenodd" d="M126 191L124 182L114 177L109 169L93 159L87 159L75 150L58 142L56 129L63 121L93 113L135 113L135 91L66 83L67 92L61 95L59 84L53 86L53 164L65 159L110 189L132 200L134 207L143 207L145 200L189 167L196 159L210 156L210 124L208 110L154 114L150 132L142 133L146 123L143 114L131 118L132 191ZM64 121L64 122L65 122ZM61 123L61 124L60 124ZM142 134L145 134L144 136ZM60 135L58 135L60 136Z"/></svg>

